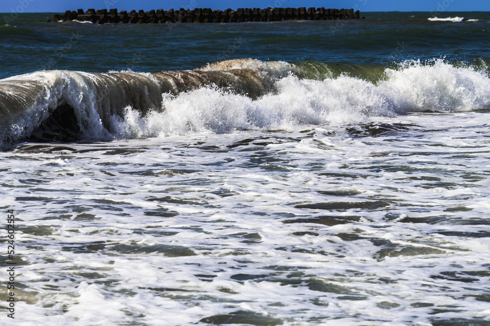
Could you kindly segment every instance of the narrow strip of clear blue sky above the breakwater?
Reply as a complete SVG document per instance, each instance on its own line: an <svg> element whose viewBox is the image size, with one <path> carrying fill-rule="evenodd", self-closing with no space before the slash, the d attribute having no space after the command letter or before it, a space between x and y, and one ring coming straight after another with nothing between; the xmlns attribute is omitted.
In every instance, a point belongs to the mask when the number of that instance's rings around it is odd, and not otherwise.
<svg viewBox="0 0 490 326"><path fill-rule="evenodd" d="M267 8L267 7L325 7L355 8L367 11L490 11L490 1L483 0L0 0L0 12L59 12L81 8L168 10L171 8Z"/></svg>

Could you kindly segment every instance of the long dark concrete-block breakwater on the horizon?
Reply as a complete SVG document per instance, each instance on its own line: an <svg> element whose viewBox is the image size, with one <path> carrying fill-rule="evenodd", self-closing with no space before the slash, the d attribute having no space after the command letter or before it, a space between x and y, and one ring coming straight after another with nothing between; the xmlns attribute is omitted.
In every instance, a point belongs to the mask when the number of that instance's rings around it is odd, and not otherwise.
<svg viewBox="0 0 490 326"><path fill-rule="evenodd" d="M288 20L349 20L360 19L359 10L354 9L325 9L310 7L301 8L238 8L237 10L226 9L211 10L210 8L196 8L194 10L150 10L127 12L117 9L83 9L77 11L67 10L63 15L56 14L48 22L68 22L77 20L79 22L92 22L94 24L104 23L162 23L162 22L279 22ZM364 17L362 17L364 18Z"/></svg>

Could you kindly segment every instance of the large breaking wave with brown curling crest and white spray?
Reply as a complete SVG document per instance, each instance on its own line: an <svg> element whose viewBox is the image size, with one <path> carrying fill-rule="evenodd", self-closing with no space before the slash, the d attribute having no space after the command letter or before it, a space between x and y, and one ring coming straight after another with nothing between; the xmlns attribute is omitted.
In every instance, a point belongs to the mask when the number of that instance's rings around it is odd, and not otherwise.
<svg viewBox="0 0 490 326"><path fill-rule="evenodd" d="M194 70L38 71L0 80L0 144L358 123L490 108L490 78L441 60L399 66L234 59Z"/></svg>

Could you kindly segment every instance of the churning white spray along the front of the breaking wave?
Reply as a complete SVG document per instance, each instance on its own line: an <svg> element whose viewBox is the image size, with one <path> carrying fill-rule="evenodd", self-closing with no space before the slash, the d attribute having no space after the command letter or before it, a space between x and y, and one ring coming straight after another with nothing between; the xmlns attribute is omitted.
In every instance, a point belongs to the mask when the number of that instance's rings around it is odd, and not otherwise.
<svg viewBox="0 0 490 326"><path fill-rule="evenodd" d="M288 129L300 125L366 122L371 117L417 111L467 111L490 107L490 79L471 67L407 62L387 69L373 84L341 75L323 81L294 76L276 82L277 92L252 101L216 88L163 96L163 112L142 116L130 107L112 118L117 137Z"/></svg>

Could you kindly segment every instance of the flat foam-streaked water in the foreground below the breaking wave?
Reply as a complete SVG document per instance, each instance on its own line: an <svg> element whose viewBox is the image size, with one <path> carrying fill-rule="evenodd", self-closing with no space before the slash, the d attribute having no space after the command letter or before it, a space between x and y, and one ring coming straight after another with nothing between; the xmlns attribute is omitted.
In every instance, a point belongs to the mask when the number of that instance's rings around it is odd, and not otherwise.
<svg viewBox="0 0 490 326"><path fill-rule="evenodd" d="M283 82L285 92L301 81ZM212 91L197 93L210 107L231 99ZM186 96L165 101L178 109ZM488 113L369 118L412 127L354 137L352 124L297 124L1 152L25 261L18 280L29 280L16 294L19 320L177 326L237 310L299 326L487 318L475 298L489 286ZM389 206L297 207L378 201ZM356 220L318 223L335 217Z"/></svg>

